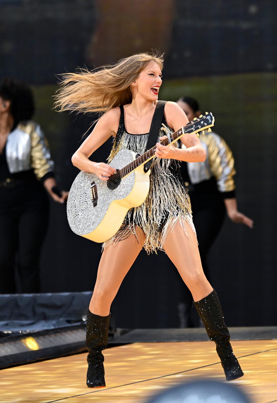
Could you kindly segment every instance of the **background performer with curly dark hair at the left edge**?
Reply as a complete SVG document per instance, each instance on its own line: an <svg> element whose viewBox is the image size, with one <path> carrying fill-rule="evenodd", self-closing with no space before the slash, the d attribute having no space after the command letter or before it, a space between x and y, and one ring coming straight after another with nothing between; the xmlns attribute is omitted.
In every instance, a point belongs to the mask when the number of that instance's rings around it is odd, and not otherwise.
<svg viewBox="0 0 277 403"><path fill-rule="evenodd" d="M40 253L48 226L48 197L58 196L54 163L40 125L31 121L34 101L24 83L0 83L0 294L16 293L15 254L21 292L40 292ZM54 191L53 191L54 190Z"/></svg>

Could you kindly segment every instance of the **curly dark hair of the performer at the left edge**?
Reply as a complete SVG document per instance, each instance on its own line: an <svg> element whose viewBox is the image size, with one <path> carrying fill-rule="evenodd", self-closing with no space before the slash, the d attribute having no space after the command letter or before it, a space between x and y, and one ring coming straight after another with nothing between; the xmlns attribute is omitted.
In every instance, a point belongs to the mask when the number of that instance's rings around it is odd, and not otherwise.
<svg viewBox="0 0 277 403"><path fill-rule="evenodd" d="M33 92L27 84L6 78L0 83L0 96L6 101L10 101L10 111L16 124L32 118L35 103Z"/></svg>

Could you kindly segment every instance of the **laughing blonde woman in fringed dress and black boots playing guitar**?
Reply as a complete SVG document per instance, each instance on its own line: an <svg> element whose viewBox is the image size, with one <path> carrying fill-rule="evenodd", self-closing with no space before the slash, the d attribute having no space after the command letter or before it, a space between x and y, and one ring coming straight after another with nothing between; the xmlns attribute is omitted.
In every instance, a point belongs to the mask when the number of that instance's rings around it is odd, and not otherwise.
<svg viewBox="0 0 277 403"><path fill-rule="evenodd" d="M123 148L144 153L162 84L162 65L161 56L142 53L98 71L65 74L57 95L59 110L105 112L73 155L75 166L107 181L115 169L104 162L92 162L89 157L110 136L114 143L108 162ZM162 123L176 131L188 119L175 102L167 102ZM104 243L87 311L89 387L106 386L101 351L108 343L110 305L142 247L148 253L157 249L167 253L192 293L208 336L216 343L226 379L243 376L232 351L219 299L202 270L190 199L179 170L179 161L204 161L205 150L196 134L185 135L182 141L185 150L157 142L145 202L129 210L118 233Z"/></svg>

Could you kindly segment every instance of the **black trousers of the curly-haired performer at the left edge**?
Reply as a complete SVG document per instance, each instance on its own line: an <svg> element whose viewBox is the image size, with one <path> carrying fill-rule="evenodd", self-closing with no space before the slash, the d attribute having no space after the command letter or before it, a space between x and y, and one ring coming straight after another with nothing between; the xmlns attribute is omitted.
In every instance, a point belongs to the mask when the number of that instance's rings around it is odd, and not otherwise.
<svg viewBox="0 0 277 403"><path fill-rule="evenodd" d="M0 294L40 292L40 254L48 214L48 197L42 184L0 188Z"/></svg>

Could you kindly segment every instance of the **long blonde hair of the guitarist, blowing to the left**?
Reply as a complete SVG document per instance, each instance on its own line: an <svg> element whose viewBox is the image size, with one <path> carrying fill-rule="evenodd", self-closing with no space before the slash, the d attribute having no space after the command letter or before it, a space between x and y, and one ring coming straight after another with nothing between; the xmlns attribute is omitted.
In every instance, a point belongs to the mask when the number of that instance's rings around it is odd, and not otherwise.
<svg viewBox="0 0 277 403"><path fill-rule="evenodd" d="M58 111L89 113L107 112L116 106L129 104L132 102L132 81L152 61L162 70L163 54L156 52L134 54L114 65L92 71L80 69L79 73L62 74L54 106Z"/></svg>

